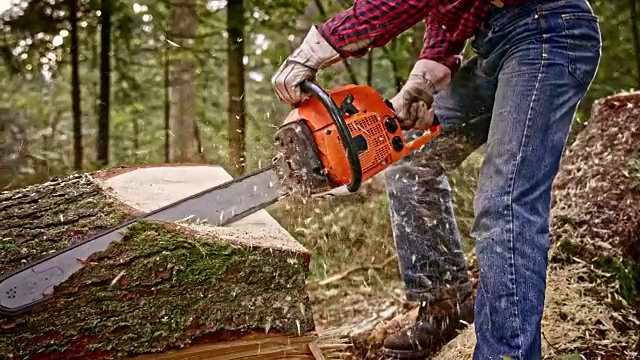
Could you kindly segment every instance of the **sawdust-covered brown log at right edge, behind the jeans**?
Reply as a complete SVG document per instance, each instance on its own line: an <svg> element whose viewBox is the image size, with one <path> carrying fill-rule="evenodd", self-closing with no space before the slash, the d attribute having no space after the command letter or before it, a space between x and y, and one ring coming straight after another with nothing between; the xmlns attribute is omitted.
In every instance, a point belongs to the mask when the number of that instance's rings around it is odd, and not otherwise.
<svg viewBox="0 0 640 360"><path fill-rule="evenodd" d="M554 240L587 258L640 255L640 92L596 101L554 183Z"/></svg>

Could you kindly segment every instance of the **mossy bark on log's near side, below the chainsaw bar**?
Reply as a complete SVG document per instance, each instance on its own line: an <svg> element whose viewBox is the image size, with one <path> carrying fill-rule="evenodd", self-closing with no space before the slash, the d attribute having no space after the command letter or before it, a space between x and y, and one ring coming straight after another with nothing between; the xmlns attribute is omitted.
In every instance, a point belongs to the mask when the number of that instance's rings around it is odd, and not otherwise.
<svg viewBox="0 0 640 360"><path fill-rule="evenodd" d="M304 291L308 258L298 253L140 222L88 260L44 306L0 321L0 353L107 359L225 330L313 330Z"/></svg>

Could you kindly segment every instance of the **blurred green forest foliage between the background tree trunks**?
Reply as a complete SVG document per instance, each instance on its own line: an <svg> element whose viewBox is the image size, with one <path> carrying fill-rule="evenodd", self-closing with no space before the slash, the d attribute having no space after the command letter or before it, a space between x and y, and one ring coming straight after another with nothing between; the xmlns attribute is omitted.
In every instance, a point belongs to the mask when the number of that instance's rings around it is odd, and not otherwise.
<svg viewBox="0 0 640 360"><path fill-rule="evenodd" d="M246 1L246 0L245 0ZM583 101L574 132L588 115L591 102L621 88L638 87L633 60L631 12L626 2L592 1L600 17L603 58L596 80ZM318 7L320 5L320 7ZM297 46L311 24L344 11L344 0L250 0L245 33L247 168L251 170L273 155L275 126L288 107L275 101L269 79L283 59ZM27 135L29 156L37 166L24 167L21 176L49 176L71 171L71 89L69 69L70 24L67 1L19 3L0 21L0 106L11 108ZM165 62L181 56L197 60L198 130L205 157L227 162L226 33L224 2L198 2L197 37L176 47L169 31L170 1L118 0L112 4L112 103L111 165L164 161ZM93 168L99 95L99 0L79 0L80 78L85 144L85 166ZM350 59L349 69L326 69L319 81L332 87L355 80L370 81L391 97L406 78L422 42L417 24L370 56ZM465 54L472 51L467 48ZM371 73L368 72L372 61ZM43 78L41 73L47 75ZM55 123L54 123L55 122ZM47 137L47 141L42 141ZM46 143L46 144L45 144ZM46 145L46 146L45 146ZM31 161L33 163L33 161ZM29 176L31 176L29 175ZM14 182L16 179L13 179ZM19 179L17 180L19 181ZM6 184L7 181L4 181Z"/></svg>

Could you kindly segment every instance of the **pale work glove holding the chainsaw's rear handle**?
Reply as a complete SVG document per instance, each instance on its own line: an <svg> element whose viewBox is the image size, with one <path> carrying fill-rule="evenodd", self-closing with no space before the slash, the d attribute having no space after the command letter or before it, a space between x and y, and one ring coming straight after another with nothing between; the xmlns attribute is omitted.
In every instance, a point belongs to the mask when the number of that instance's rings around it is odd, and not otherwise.
<svg viewBox="0 0 640 360"><path fill-rule="evenodd" d="M451 70L432 61L418 60L407 82L391 99L400 127L403 130L427 130L433 123L433 95L451 81Z"/></svg>

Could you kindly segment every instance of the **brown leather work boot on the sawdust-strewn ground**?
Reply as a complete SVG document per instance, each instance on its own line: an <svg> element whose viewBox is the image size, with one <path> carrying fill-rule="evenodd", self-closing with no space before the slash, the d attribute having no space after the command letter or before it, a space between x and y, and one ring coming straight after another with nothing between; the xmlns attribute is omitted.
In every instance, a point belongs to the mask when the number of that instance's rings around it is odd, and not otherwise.
<svg viewBox="0 0 640 360"><path fill-rule="evenodd" d="M457 307L449 301L421 303L416 323L385 339L384 355L388 359L425 359L473 322L474 301L475 296L467 296Z"/></svg>

